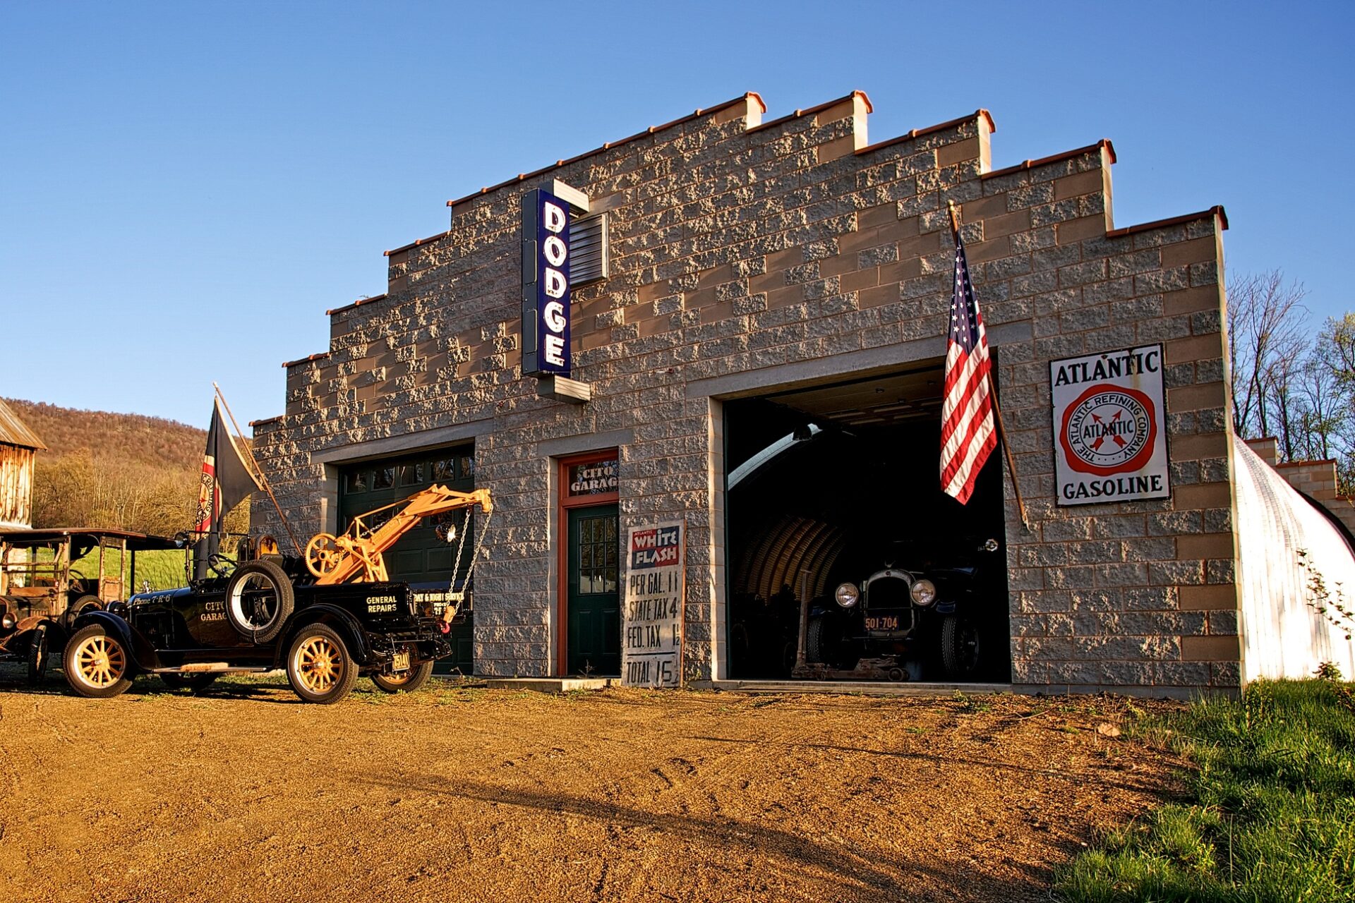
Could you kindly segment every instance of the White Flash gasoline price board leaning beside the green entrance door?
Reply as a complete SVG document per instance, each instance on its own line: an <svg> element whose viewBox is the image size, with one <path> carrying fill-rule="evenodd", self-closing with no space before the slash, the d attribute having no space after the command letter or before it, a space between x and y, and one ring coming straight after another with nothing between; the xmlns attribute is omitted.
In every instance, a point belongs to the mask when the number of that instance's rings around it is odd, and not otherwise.
<svg viewBox="0 0 1355 903"><path fill-rule="evenodd" d="M626 529L621 674L626 686L680 686L683 524Z"/></svg>

